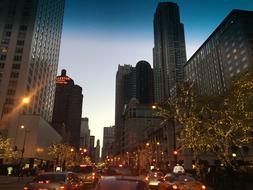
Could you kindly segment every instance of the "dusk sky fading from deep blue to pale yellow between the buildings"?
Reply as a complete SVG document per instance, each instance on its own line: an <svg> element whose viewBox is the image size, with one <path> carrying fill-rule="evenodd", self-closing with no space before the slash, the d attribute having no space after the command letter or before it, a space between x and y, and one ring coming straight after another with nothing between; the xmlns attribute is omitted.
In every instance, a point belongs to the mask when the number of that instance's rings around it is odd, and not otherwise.
<svg viewBox="0 0 253 190"><path fill-rule="evenodd" d="M114 125L118 65L140 60L153 67L153 15L159 0L65 0L58 74L83 89L82 116L102 144ZM253 0L172 0L184 24L187 59L232 9L253 11Z"/></svg>

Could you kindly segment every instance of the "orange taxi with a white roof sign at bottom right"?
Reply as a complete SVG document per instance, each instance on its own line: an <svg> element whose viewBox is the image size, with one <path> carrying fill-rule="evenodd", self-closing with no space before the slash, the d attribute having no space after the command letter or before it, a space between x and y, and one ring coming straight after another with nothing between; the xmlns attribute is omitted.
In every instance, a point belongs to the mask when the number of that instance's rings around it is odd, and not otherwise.
<svg viewBox="0 0 253 190"><path fill-rule="evenodd" d="M206 186L196 180L191 174L166 174L158 185L158 190L206 190Z"/></svg>

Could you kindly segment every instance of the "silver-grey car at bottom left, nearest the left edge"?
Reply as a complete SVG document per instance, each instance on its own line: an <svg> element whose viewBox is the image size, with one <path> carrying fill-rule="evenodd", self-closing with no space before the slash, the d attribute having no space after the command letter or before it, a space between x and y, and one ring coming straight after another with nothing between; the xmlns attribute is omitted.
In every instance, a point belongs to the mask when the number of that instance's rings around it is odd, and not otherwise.
<svg viewBox="0 0 253 190"><path fill-rule="evenodd" d="M80 190L80 178L72 172L45 172L27 183L23 190Z"/></svg>

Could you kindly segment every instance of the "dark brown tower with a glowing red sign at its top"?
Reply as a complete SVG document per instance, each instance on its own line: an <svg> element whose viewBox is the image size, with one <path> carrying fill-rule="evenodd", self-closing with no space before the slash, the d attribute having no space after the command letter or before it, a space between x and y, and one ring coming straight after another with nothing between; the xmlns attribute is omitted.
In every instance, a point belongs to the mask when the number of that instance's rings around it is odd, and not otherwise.
<svg viewBox="0 0 253 190"><path fill-rule="evenodd" d="M56 78L53 110L53 127L63 141L79 149L82 117L82 88L66 75L66 70Z"/></svg>

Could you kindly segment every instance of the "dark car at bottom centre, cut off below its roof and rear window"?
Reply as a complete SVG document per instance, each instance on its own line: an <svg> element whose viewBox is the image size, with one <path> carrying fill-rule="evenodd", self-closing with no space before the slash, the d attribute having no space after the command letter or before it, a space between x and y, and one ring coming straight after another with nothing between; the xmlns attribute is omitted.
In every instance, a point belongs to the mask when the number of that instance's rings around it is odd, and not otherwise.
<svg viewBox="0 0 253 190"><path fill-rule="evenodd" d="M105 176L99 180L95 190L150 190L148 185L135 177Z"/></svg>

